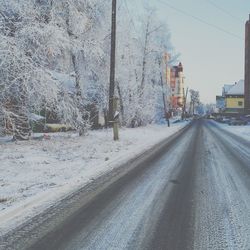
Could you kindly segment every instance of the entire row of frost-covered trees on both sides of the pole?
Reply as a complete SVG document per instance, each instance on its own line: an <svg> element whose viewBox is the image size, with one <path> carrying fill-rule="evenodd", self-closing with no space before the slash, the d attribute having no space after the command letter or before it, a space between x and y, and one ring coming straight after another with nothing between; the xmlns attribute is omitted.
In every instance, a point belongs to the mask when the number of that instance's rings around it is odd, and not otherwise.
<svg viewBox="0 0 250 250"><path fill-rule="evenodd" d="M152 13L139 32L119 9L116 91L126 126L163 113L162 58L168 30ZM53 114L83 133L91 111L107 112L110 1L0 0L0 128L29 137L30 114Z"/></svg>

